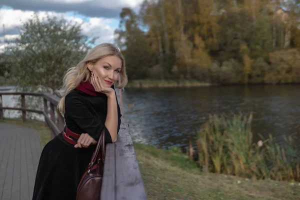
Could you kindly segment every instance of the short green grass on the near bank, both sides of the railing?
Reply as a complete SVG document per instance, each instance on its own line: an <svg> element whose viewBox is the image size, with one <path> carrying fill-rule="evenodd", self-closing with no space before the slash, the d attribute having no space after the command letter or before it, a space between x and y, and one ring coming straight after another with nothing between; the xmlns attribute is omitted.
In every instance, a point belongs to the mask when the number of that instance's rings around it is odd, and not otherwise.
<svg viewBox="0 0 300 200"><path fill-rule="evenodd" d="M41 143L50 138L43 122L6 119L34 128L41 133ZM178 149L159 149L134 144L148 199L298 199L300 184L275 180L251 180L232 175L200 172L197 162Z"/></svg>

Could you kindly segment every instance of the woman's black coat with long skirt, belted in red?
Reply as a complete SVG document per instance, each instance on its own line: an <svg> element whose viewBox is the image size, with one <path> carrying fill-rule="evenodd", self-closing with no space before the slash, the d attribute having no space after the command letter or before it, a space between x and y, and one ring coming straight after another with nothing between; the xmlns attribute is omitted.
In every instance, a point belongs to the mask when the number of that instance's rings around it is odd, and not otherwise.
<svg viewBox="0 0 300 200"><path fill-rule="evenodd" d="M120 108L118 127L120 127ZM65 97L64 119L66 126L75 133L88 133L95 140L105 128L105 141L111 137L104 126L107 114L107 96L96 92L90 95L74 89ZM76 190L95 145L75 148L62 138L60 132L43 148L35 177L32 200L75 200Z"/></svg>

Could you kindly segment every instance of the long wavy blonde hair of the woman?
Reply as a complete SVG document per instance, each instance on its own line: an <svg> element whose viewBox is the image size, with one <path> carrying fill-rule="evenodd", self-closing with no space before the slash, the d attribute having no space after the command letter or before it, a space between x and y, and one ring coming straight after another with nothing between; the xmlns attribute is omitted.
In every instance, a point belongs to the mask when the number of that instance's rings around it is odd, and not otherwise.
<svg viewBox="0 0 300 200"><path fill-rule="evenodd" d="M61 99L57 105L59 112L64 115L64 100L65 96L74 88L76 88L81 81L87 81L90 77L90 71L87 68L88 62L97 62L99 59L114 55L121 59L120 82L117 88L124 88L128 82L125 68L125 60L119 49L111 43L101 43L91 48L84 58L74 67L69 68L63 77L63 84L60 89L56 90Z"/></svg>

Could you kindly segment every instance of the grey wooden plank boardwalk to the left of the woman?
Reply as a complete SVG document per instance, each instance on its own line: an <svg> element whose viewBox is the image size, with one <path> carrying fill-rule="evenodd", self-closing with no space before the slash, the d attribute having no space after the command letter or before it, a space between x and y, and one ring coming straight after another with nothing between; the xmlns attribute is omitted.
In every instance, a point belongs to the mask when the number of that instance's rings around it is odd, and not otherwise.
<svg viewBox="0 0 300 200"><path fill-rule="evenodd" d="M36 130L0 122L0 199L31 200L42 146Z"/></svg>

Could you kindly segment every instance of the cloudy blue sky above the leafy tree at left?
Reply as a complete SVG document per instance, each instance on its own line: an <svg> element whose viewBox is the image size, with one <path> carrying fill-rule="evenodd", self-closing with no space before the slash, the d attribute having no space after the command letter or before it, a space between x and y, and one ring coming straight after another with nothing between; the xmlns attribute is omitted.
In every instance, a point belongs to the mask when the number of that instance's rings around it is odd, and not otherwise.
<svg viewBox="0 0 300 200"><path fill-rule="evenodd" d="M113 31L123 7L138 10L142 0L0 0L0 51L4 39L18 36L18 28L34 12L83 22L82 31L97 43L113 42Z"/></svg>

